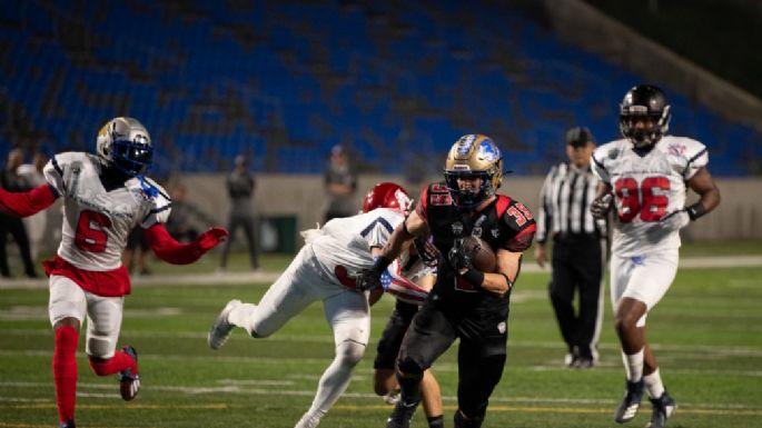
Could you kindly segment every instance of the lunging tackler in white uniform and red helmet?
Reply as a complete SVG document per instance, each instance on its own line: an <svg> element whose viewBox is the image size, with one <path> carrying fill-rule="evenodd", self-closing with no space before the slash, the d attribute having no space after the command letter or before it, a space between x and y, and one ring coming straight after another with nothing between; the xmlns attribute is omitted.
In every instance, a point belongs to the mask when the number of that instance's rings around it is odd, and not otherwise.
<svg viewBox="0 0 762 428"><path fill-rule="evenodd" d="M211 349L225 345L234 327L244 328L253 338L266 338L311 302L323 300L334 331L336 356L296 428L317 427L349 386L353 369L368 345L368 292L358 290L357 276L373 265L374 253L380 252L410 206L405 189L395 183L378 183L370 193L383 201L379 208L303 231L305 245L259 303L230 300L209 330L207 342Z"/></svg>

